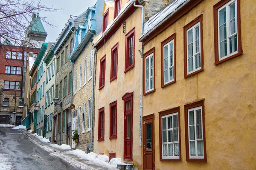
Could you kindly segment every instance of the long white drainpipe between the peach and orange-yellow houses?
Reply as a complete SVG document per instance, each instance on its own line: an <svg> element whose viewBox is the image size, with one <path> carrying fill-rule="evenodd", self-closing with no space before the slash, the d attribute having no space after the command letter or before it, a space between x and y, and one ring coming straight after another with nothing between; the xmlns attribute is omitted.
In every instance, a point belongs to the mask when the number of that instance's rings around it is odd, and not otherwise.
<svg viewBox="0 0 256 170"><path fill-rule="evenodd" d="M134 7L141 8L141 35L143 35L144 29L144 7L141 5L136 5L136 0L134 0ZM141 51L140 52L140 147L142 146L142 111L143 111L143 44L141 42Z"/></svg>

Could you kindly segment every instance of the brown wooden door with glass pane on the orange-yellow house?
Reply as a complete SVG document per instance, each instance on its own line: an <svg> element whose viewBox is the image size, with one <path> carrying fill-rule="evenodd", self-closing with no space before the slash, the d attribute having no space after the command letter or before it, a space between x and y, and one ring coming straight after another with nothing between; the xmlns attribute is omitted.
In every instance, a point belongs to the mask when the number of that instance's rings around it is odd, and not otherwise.
<svg viewBox="0 0 256 170"><path fill-rule="evenodd" d="M154 114L143 117L143 170L154 170Z"/></svg>

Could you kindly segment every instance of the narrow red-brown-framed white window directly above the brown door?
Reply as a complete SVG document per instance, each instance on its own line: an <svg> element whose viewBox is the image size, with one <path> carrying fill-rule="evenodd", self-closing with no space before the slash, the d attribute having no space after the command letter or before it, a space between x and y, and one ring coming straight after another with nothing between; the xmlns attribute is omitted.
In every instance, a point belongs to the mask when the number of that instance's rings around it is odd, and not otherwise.
<svg viewBox="0 0 256 170"><path fill-rule="evenodd" d="M143 57L144 95L155 91L154 51L155 48L152 48Z"/></svg>

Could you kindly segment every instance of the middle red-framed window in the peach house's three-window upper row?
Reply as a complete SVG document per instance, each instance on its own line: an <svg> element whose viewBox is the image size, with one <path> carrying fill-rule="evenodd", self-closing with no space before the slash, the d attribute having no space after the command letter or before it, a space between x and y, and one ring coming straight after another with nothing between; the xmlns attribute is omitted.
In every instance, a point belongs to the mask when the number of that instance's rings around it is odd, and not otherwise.
<svg viewBox="0 0 256 170"><path fill-rule="evenodd" d="M117 77L118 43L111 49L111 74L110 81Z"/></svg>

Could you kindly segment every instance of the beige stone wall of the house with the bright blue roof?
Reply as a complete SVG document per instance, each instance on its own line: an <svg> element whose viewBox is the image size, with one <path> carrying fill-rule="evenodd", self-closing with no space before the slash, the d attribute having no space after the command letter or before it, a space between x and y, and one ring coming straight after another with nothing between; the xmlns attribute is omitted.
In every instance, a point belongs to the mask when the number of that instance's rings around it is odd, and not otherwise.
<svg viewBox="0 0 256 170"><path fill-rule="evenodd" d="M81 107L80 112L80 126L79 126L79 143L76 146L76 148L86 151L87 147L90 144L90 135L93 133L94 138L94 128L91 130L91 128L88 127L88 106L89 106L89 99L92 97L92 86L93 86L93 79L92 77L89 77L90 72L90 52L93 50L92 42L89 42L81 51L81 54L74 62L74 72L77 70L77 89L76 94L73 95L73 103L75 105L75 109L77 110L77 116L76 116L76 129L78 129L78 109ZM94 53L93 53L94 54ZM85 59L87 58L87 68L86 68L86 80L84 81L84 64ZM93 61L92 61L93 62ZM81 75L81 88L79 87L79 75L80 75L80 65L82 65L82 75ZM95 65L95 64L94 64ZM74 77L73 87L75 83L75 77ZM95 79L94 79L95 80ZM84 130L82 129L82 122L83 122L83 104L85 103L85 113L84 113ZM91 114L93 115L93 124L94 124L94 109L92 109ZM92 141L93 142L93 141Z"/></svg>

